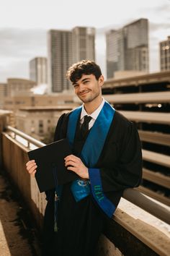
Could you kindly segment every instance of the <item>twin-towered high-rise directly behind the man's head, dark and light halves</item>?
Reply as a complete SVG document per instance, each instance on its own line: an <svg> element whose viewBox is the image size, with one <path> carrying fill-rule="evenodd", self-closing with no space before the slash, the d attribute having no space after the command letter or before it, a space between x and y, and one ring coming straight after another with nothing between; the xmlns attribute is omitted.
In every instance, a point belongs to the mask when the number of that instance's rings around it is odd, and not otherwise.
<svg viewBox="0 0 170 256"><path fill-rule="evenodd" d="M95 59L94 39L93 27L48 32L48 92L58 93L72 87L66 71L74 62Z"/></svg>

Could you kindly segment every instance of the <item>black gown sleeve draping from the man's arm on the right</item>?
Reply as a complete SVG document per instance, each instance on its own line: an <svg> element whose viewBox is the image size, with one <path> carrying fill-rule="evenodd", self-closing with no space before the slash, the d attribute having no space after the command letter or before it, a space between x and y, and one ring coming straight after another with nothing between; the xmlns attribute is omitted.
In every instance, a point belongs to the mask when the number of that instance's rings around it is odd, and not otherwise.
<svg viewBox="0 0 170 256"><path fill-rule="evenodd" d="M98 178L101 179L103 192L138 187L142 178L141 143L135 125L129 122L128 128L122 130L120 137L121 139L117 142L117 160L114 163L110 161L107 167L101 166L96 169L99 174ZM96 179L93 173L93 169L89 169L90 179Z"/></svg>

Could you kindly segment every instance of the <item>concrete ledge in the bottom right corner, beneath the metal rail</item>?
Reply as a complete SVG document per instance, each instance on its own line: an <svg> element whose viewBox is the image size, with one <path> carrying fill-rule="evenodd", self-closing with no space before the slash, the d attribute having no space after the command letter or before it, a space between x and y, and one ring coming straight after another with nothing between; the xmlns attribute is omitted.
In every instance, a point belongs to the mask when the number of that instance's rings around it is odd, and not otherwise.
<svg viewBox="0 0 170 256"><path fill-rule="evenodd" d="M105 226L104 235L114 244L116 253L119 249L120 253L127 256L169 256L168 236L120 209L116 210L113 219L107 221ZM107 246L112 247L109 242L107 241ZM106 238L100 240L99 256L109 255L109 248L105 244Z"/></svg>

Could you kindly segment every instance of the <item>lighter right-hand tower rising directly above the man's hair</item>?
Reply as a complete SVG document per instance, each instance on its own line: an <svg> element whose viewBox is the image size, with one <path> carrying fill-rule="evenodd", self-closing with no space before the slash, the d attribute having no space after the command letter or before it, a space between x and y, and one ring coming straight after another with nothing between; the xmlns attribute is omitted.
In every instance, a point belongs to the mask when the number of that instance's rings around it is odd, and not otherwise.
<svg viewBox="0 0 170 256"><path fill-rule="evenodd" d="M95 28L74 27L73 33L73 63L82 59L95 60Z"/></svg>

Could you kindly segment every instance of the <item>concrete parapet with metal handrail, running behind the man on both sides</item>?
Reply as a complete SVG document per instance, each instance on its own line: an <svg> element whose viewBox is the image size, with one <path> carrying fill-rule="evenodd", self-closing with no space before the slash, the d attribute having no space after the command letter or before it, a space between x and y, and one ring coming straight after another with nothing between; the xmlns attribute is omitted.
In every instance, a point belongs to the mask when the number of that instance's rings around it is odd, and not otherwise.
<svg viewBox="0 0 170 256"><path fill-rule="evenodd" d="M30 147L38 148L44 144L17 129L6 127L6 130L2 133L1 145L4 169L19 188L38 226L41 227L46 205L45 195L40 194L35 178L27 174L25 163L29 160L27 152ZM162 221L170 223L169 209L153 202L136 189L126 189L123 197ZM152 236L153 233L155 234L154 237ZM100 256L109 255L109 247L115 248L115 246L119 247L123 254L130 256L169 255L168 236L144 221L133 218L119 208L117 208L112 220L106 223L104 234L105 236L101 238L99 245L98 255ZM110 253L110 255L112 254Z"/></svg>

